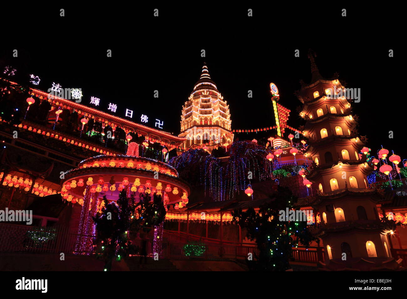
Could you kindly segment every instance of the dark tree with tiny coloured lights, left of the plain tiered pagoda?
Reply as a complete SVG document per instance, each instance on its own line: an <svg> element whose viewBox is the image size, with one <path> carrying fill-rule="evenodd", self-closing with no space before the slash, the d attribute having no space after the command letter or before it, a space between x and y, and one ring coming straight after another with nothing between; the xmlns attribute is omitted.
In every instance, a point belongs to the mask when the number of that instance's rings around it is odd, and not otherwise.
<svg viewBox="0 0 407 299"><path fill-rule="evenodd" d="M289 261L293 256L293 247L299 244L309 246L317 240L313 237L304 221L280 221L280 210L292 208L296 198L288 188L278 188L274 201L259 208L245 212L235 210L233 219L239 221L241 228L247 230L247 237L256 240L259 254L253 260L247 260L252 271L285 271L291 268Z"/></svg>

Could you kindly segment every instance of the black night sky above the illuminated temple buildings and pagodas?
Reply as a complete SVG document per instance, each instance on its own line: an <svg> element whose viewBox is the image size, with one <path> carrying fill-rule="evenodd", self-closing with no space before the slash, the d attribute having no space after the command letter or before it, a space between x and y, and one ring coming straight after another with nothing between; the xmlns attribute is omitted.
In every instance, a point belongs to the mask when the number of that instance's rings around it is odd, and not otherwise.
<svg viewBox="0 0 407 299"><path fill-rule="evenodd" d="M0 68L14 66L14 80L19 83L27 81L28 74L38 75L37 88L44 91L52 82L81 88L81 104L94 107L89 102L96 96L101 99L97 109L107 111L108 104L115 103L118 110L112 114L124 118L125 110L131 109L131 120L140 123L144 114L149 127L159 119L164 131L177 135L182 105L204 61L230 105L232 129L275 125L270 82L279 88L279 103L291 109L288 124L304 124L295 109L301 103L293 93L300 89L300 79L311 80L307 51L312 48L323 77L339 72L346 87L361 88L361 102L352 103L353 114L359 116L359 134L368 137L372 152L383 144L407 158L404 98L397 74L403 61L397 58L401 55L392 33L378 40L371 30L365 31L358 18L364 10L348 9L344 20L338 7L304 6L290 12L252 7L256 16L252 18L247 17L246 7L159 7L158 18L153 17L153 8L122 11L120 18L113 18L115 9L67 7L65 19L59 17L59 7L26 8L18 15L25 30L11 34L9 42L0 46ZM271 8L273 17L268 15ZM42 16L50 20L39 22ZM368 14L364 17L373 22ZM18 50L17 58L12 57L13 49ZM111 58L106 57L107 49L112 50ZM206 50L204 58L201 49ZM300 57L294 57L295 49ZM395 57L388 57L389 49ZM154 90L159 98L153 97ZM247 98L248 90L253 98ZM389 131L394 139L388 138ZM256 134L235 136L252 139Z"/></svg>

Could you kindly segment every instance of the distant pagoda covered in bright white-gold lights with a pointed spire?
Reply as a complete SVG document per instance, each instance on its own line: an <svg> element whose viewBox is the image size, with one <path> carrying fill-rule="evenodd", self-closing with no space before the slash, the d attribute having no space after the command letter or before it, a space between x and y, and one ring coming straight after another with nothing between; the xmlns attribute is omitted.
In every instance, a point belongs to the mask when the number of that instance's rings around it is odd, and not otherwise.
<svg viewBox="0 0 407 299"><path fill-rule="evenodd" d="M182 149L204 148L207 151L233 142L227 101L210 78L206 64L193 92L182 107L181 133L186 137Z"/></svg>

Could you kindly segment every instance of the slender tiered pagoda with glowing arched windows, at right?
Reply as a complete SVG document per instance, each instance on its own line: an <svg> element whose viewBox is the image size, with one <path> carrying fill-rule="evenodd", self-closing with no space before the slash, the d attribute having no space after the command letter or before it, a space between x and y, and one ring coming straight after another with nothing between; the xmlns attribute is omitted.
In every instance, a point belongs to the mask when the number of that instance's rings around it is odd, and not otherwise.
<svg viewBox="0 0 407 299"><path fill-rule="evenodd" d="M304 104L300 116L306 120L307 154L315 162L306 179L313 191L309 204L321 219L312 230L323 241L324 266L374 270L384 267L386 261L390 268L396 267L387 238L391 229L376 210L382 196L368 186L366 176L372 166L359 154L363 142L357 135L357 117L352 116L347 96L341 93L342 83L337 76L323 79L314 55L310 50L311 83L302 84L296 94Z"/></svg>

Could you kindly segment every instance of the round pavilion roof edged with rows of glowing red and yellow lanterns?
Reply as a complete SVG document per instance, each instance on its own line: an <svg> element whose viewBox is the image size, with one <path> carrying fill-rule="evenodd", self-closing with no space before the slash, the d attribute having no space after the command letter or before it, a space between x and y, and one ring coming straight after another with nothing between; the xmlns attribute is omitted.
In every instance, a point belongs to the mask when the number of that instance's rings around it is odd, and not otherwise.
<svg viewBox="0 0 407 299"><path fill-rule="evenodd" d="M188 183L178 178L178 172L172 166L144 157L116 155L100 155L83 160L78 168L69 170L61 181L61 194L83 198L86 186L94 186L98 197L116 201L122 188L128 184L135 199L147 189L151 194L161 190L168 195L168 203L173 204L185 200L190 194ZM147 184L147 186L146 186ZM168 186L169 185L169 186ZM170 189L171 188L171 189ZM185 194L184 194L185 193ZM184 199L181 197L184 196Z"/></svg>

